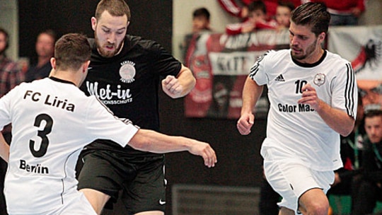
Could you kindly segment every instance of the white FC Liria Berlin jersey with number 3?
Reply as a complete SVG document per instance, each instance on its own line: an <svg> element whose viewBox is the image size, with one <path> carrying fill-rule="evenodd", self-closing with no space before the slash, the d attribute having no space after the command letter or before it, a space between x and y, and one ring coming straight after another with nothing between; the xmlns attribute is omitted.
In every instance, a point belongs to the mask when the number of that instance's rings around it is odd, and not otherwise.
<svg viewBox="0 0 382 215"><path fill-rule="evenodd" d="M21 83L0 99L0 126L12 122L5 189L10 214L59 209L74 194L81 149L95 139L125 146L138 128L122 122L73 83L46 78ZM121 148L122 149L122 148Z"/></svg>

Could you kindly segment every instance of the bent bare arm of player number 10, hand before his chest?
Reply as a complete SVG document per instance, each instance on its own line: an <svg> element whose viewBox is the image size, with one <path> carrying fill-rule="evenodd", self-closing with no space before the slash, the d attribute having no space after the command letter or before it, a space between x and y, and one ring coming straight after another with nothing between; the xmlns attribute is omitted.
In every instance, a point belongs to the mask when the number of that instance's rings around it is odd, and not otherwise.
<svg viewBox="0 0 382 215"><path fill-rule="evenodd" d="M342 136L347 136L352 132L355 122L353 117L342 110L330 107L323 100L320 100L316 89L309 83L303 86L302 90L302 98L299 99L298 103L310 105L329 127Z"/></svg>

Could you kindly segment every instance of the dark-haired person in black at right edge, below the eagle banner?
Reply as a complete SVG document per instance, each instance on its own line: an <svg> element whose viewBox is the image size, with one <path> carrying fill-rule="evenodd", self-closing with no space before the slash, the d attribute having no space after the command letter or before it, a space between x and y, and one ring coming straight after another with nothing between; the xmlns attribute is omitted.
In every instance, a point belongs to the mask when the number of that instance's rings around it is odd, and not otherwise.
<svg viewBox="0 0 382 215"><path fill-rule="evenodd" d="M362 172L352 182L352 214L372 214L382 200L382 110L369 110L364 117Z"/></svg>

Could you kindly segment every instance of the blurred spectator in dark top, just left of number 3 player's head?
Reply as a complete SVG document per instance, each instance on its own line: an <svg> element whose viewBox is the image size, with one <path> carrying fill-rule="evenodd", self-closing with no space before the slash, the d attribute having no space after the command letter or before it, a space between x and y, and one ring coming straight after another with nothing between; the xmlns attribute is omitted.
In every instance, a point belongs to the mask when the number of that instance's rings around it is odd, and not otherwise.
<svg viewBox="0 0 382 215"><path fill-rule="evenodd" d="M53 30L42 31L36 40L37 64L28 69L25 74L25 81L30 82L36 79L43 79L49 76L52 70L50 58L54 56L54 42L56 33Z"/></svg>

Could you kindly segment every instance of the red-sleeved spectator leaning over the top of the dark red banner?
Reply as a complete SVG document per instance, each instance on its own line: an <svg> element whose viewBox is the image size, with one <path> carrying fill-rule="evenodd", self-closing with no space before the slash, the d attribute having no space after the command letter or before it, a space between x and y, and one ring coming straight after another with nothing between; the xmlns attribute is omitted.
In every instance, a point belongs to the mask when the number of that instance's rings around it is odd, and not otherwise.
<svg viewBox="0 0 382 215"><path fill-rule="evenodd" d="M253 1L248 6L248 20L243 23L228 24L227 35L250 33L260 29L276 29L277 22L267 17L267 8L263 1Z"/></svg>

